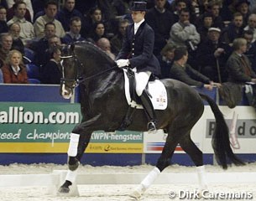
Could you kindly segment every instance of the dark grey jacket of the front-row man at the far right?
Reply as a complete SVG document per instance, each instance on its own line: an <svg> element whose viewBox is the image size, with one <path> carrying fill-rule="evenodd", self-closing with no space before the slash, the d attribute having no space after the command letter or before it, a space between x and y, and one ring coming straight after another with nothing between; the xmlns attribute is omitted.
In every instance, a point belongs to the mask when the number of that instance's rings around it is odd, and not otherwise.
<svg viewBox="0 0 256 201"><path fill-rule="evenodd" d="M252 78L256 78L255 73L251 69L249 59L246 55L243 55L244 61L248 66L250 71L250 76L246 75L243 68L243 59L240 55L233 52L231 56L227 59L227 72L228 72L228 81L236 83L244 83L251 81Z"/></svg>

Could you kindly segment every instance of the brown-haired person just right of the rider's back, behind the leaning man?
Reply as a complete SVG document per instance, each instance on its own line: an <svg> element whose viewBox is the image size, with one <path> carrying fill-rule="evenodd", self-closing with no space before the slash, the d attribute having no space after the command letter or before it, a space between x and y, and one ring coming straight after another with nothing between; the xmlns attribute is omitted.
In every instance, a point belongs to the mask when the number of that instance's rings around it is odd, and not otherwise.
<svg viewBox="0 0 256 201"><path fill-rule="evenodd" d="M161 79L170 78L170 67L174 62L174 52L175 47L171 44L166 44L157 57L161 67Z"/></svg>

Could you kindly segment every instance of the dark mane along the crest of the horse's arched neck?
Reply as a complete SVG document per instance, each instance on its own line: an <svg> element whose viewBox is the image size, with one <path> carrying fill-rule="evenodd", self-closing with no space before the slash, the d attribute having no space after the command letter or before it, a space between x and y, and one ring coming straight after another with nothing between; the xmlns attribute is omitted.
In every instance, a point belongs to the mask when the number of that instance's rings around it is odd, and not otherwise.
<svg viewBox="0 0 256 201"><path fill-rule="evenodd" d="M75 46L81 48L81 49L88 49L90 50L90 54L93 54L94 57L96 57L96 60L100 60L104 63L109 64L112 66L115 62L107 55L106 52L104 52L102 49L97 47L96 44L92 44L88 41L77 41L75 43Z"/></svg>

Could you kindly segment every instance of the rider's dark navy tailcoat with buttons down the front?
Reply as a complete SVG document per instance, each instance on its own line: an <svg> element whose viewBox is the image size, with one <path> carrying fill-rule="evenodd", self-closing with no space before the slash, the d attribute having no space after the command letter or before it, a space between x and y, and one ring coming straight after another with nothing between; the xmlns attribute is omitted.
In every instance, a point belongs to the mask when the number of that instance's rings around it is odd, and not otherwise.
<svg viewBox="0 0 256 201"><path fill-rule="evenodd" d="M142 23L134 35L134 24L126 29L122 49L117 59L129 59L132 68L137 67L137 72L150 71L160 75L158 59L153 54L154 31L147 23Z"/></svg>

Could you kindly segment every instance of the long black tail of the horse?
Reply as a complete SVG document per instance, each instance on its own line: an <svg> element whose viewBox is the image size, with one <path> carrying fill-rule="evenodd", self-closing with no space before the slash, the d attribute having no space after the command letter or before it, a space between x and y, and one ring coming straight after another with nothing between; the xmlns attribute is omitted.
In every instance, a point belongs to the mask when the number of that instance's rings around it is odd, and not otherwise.
<svg viewBox="0 0 256 201"><path fill-rule="evenodd" d="M213 101L208 95L199 95L209 103L216 119L216 126L212 136L212 148L217 162L224 169L227 169L227 159L230 159L235 165L244 165L244 162L232 152L229 141L229 129L222 115L222 111L220 111L215 101Z"/></svg>

